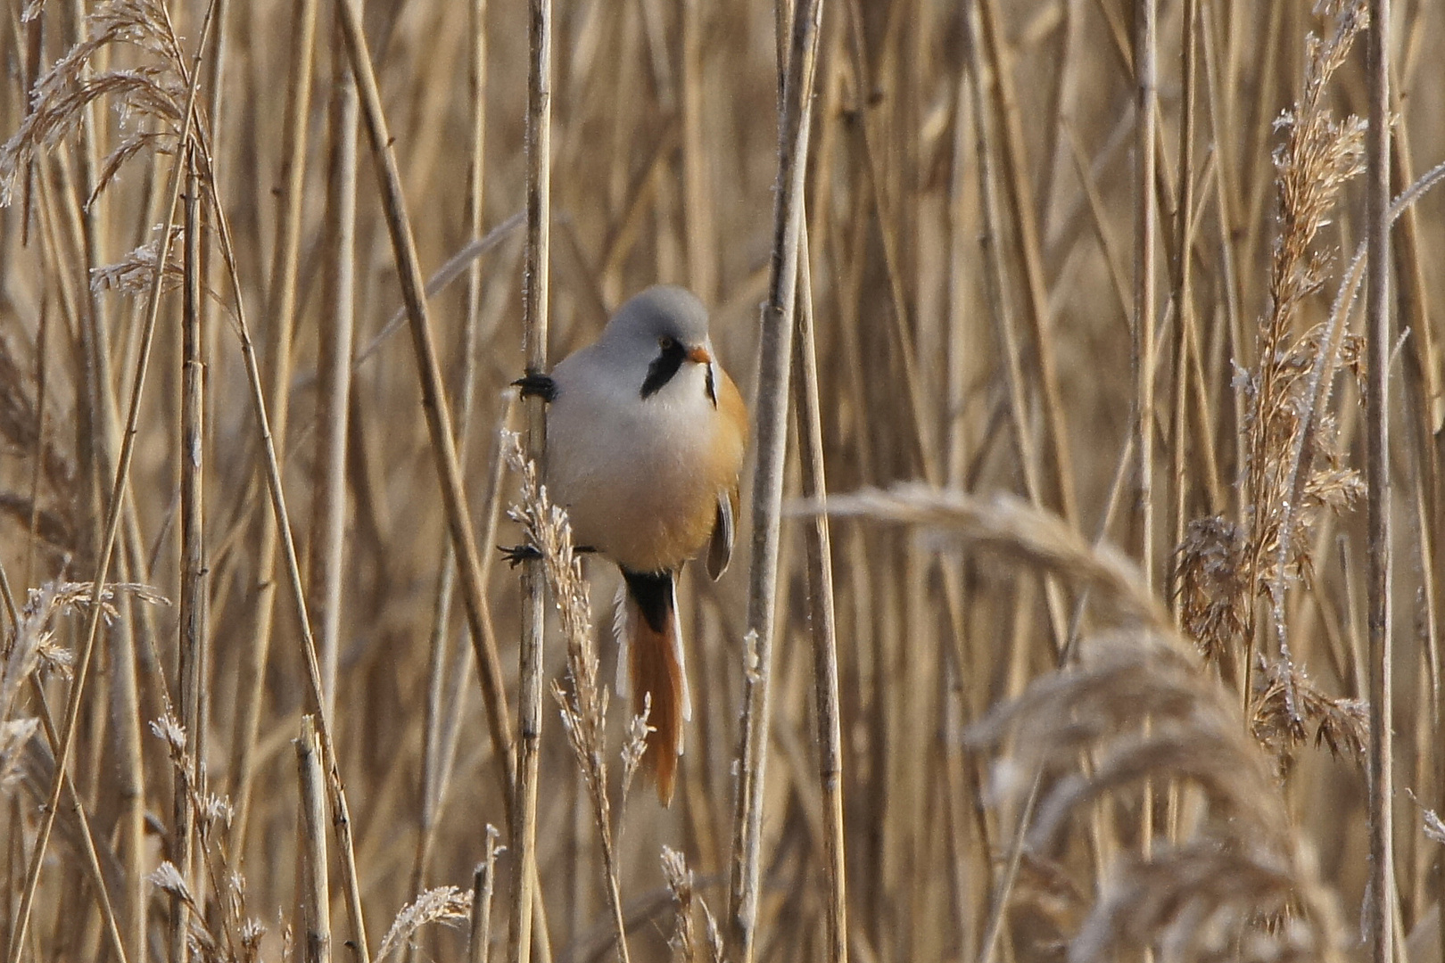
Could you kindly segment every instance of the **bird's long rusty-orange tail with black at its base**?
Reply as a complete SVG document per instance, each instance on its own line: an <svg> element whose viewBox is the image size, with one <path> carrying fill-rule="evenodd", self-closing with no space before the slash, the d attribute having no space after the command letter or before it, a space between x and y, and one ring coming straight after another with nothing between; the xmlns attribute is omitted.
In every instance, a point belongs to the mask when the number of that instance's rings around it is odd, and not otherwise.
<svg viewBox="0 0 1445 963"><path fill-rule="evenodd" d="M682 755L682 726L692 719L692 696L682 661L682 629L670 572L623 572L626 598L617 606L618 694L631 692L636 715L647 709L643 768L657 780L657 800L672 804Z"/></svg>

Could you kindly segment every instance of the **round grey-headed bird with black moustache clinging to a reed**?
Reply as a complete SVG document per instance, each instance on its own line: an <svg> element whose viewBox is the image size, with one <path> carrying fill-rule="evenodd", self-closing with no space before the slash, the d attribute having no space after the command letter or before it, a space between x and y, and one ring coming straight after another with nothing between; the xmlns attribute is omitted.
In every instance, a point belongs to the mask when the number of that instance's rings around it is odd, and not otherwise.
<svg viewBox="0 0 1445 963"><path fill-rule="evenodd" d="M630 687L639 715L650 696L643 762L669 806L692 718L676 578L704 546L708 575L727 569L747 406L712 357L702 302L668 286L634 296L595 344L517 385L549 403L546 485L575 544L621 569L618 694Z"/></svg>

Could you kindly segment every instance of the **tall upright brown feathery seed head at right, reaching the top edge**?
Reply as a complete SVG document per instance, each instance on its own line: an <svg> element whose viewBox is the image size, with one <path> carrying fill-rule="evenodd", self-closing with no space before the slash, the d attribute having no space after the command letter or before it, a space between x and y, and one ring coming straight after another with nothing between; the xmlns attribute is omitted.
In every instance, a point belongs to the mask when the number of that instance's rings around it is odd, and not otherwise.
<svg viewBox="0 0 1445 963"><path fill-rule="evenodd" d="M1254 677L1261 660L1254 651L1254 601L1269 599L1274 642L1269 661L1283 668L1266 687L1283 686L1276 705L1289 719L1267 729L1277 736L1272 745L1282 761L1295 736L1303 738L1298 718L1303 700L1292 692L1298 674L1289 648L1286 588L1311 578L1309 536L1319 513L1345 510L1364 494L1358 472L1342 465L1335 420L1319 403L1321 385L1328 390L1341 365L1358 374L1360 344L1344 334L1338 318L1296 332L1306 299L1327 284L1338 254L1319 235L1344 186L1364 170L1366 124L1353 116L1337 120L1329 94L1332 78L1368 22L1366 4L1329 0L1316 4L1316 12L1325 17L1325 33L1306 38L1299 100L1274 123L1283 133L1273 153L1279 234L1270 258L1269 305L1257 334L1257 367L1235 378L1246 435L1241 524L1222 517L1191 523L1175 563L1185 629L1225 668L1227 679L1237 676L1228 663L1238 654L1246 703L1263 694Z"/></svg>

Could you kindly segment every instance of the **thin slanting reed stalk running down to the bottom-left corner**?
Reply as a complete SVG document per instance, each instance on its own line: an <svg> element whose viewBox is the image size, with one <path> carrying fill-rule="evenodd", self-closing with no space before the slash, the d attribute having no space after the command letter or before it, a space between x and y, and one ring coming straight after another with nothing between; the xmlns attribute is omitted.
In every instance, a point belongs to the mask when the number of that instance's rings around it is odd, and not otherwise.
<svg viewBox="0 0 1445 963"><path fill-rule="evenodd" d="M101 598L105 593L105 579L110 576L110 565L116 549L116 536L120 531L121 507L124 505L126 485L130 479L130 463L136 453L136 437L140 424L140 401L144 394L146 374L150 370L150 348L155 344L156 322L160 318L160 292L165 264L171 254L171 235L176 218L176 202L181 196L181 173L185 167L185 147L189 144L195 121L195 97L199 79L199 65L205 43L211 32L211 17L215 12L215 0L207 4L205 17L201 22L199 38L197 40L195 58L191 66L191 77L186 79L185 114L181 121L181 137L175 160L171 165L169 185L166 189L166 219L156 238L156 271L150 280L150 290L146 300L146 318L140 334L140 347L136 358L136 372L131 378L130 409L126 416L126 432L121 436L120 462L116 466L116 481L111 485L110 501L105 505L105 530L97 552L95 579L91 591L91 605L85 622L85 641L81 645L79 657L75 660L74 680L65 705L65 725L61 729L61 745L55 754L55 775L51 780L49 797L40 814L40 826L36 830L35 845L30 850L30 863L26 868L25 889L20 895L20 908L12 923L10 946L6 950L7 963L20 963L25 949L26 934L30 927L30 911L35 907L35 892L40 884L40 869L45 863L45 852L49 847L51 833L55 829L55 813L61 798L61 787L65 784L65 770L71 762L75 748L77 723L81 715L81 697L85 694L85 679L90 671L91 657L95 654L95 640L100 635L100 621L103 615Z"/></svg>

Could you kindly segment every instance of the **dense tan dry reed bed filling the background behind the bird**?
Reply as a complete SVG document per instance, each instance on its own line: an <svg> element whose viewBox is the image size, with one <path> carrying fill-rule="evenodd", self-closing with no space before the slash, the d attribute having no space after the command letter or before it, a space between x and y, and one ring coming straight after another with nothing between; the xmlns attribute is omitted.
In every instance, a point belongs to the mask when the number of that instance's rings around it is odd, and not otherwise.
<svg viewBox="0 0 1445 963"><path fill-rule="evenodd" d="M1134 26L1155 6L1150 182ZM1400 195L1445 159L1445 7L1393 6ZM473 615L514 722L523 599L493 546L523 539L499 429L523 427L529 16L363 13L420 269L448 282L429 306L481 552ZM1367 953L1366 22L1353 0L824 4L798 300L832 492L855 960ZM553 361L631 293L682 283L757 397L780 25L766 3L555 1ZM347 62L316 0L0 10L12 963L507 953L493 666ZM1441 951L1442 225L1445 195L1418 191L1390 264L1389 915L1410 960ZM1156 276L1150 339L1136 264ZM838 959L798 449L766 960ZM572 606L543 666L535 959L720 959L757 670L747 540L722 582L682 583L695 715L662 810L629 783L636 720L607 697L614 576L587 565L588 615L559 520L536 492L520 517Z"/></svg>

